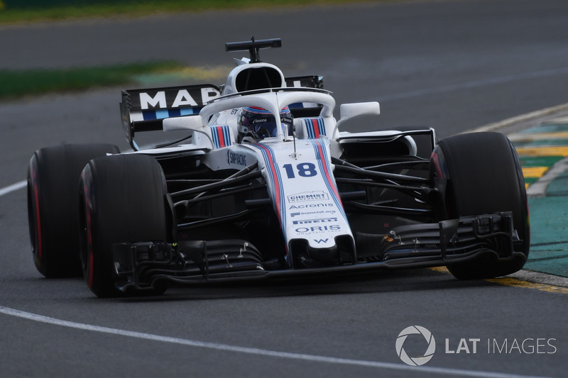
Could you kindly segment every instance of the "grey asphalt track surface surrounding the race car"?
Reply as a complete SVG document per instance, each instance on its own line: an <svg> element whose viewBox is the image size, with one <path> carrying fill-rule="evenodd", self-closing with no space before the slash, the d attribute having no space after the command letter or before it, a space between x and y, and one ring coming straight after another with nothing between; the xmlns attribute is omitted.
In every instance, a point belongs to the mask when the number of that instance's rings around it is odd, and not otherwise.
<svg viewBox="0 0 568 378"><path fill-rule="evenodd" d="M0 67L163 58L219 66L239 57L224 52L225 42L251 35L283 38L284 47L263 59L290 76L324 75L338 103L381 101L374 127L427 125L444 137L568 102L562 0L1 26ZM0 104L0 189L24 180L29 157L45 145L107 141L126 148L119 93ZM0 251L0 377L568 376L562 291L459 282L420 269L97 299L80 279L48 280L35 271L23 189L0 196ZM437 343L421 367L405 365L395 350L399 333L415 325ZM413 357L427 346L418 336L404 343Z"/></svg>

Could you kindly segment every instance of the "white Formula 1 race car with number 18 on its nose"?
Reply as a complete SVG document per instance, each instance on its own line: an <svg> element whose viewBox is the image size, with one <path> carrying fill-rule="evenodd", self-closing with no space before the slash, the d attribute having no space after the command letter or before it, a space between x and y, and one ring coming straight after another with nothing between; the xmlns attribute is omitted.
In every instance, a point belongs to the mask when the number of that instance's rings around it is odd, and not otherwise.
<svg viewBox="0 0 568 378"><path fill-rule="evenodd" d="M280 46L227 43L250 58L221 87L123 91L132 152L36 151L28 218L39 272L83 274L104 297L170 283L435 266L479 279L523 267L527 196L505 135L350 133L379 104L342 104L336 121L322 77L287 78L260 60ZM141 149L134 136L156 130L183 136Z"/></svg>

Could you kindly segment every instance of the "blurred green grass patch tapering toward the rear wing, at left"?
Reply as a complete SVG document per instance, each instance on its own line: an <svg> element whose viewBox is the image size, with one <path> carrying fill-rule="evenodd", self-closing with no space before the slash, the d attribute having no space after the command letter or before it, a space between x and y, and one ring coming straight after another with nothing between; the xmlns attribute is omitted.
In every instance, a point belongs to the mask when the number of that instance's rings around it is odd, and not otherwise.
<svg viewBox="0 0 568 378"><path fill-rule="evenodd" d="M80 67L68 70L0 70L0 99L130 84L136 82L136 77L139 76L180 70L182 66L175 62Z"/></svg>

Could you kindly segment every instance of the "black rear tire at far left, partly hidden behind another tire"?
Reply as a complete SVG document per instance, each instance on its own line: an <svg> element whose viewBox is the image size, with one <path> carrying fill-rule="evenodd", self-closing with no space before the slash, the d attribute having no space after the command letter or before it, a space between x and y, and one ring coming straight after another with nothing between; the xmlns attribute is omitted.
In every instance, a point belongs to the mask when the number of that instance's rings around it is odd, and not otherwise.
<svg viewBox="0 0 568 378"><path fill-rule="evenodd" d="M89 160L119 152L109 144L58 145L37 150L31 157L28 226L33 261L45 277L82 274L77 182Z"/></svg>

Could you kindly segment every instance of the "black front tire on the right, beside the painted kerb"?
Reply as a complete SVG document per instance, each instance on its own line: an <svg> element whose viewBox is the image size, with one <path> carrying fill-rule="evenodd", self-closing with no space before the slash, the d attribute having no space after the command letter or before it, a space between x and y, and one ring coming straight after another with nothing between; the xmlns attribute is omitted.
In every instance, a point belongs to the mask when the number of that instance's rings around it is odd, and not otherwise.
<svg viewBox="0 0 568 378"><path fill-rule="evenodd" d="M517 153L501 133L471 133L440 140L432 152L434 177L447 179L448 218L498 211L513 211L513 226L522 245L522 257L498 261L494 254L448 265L459 279L504 276L523 268L530 247L530 227L525 181ZM499 251L496 251L499 252Z"/></svg>

